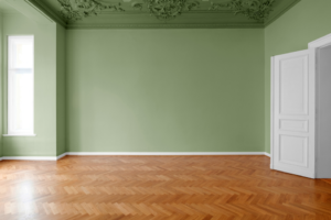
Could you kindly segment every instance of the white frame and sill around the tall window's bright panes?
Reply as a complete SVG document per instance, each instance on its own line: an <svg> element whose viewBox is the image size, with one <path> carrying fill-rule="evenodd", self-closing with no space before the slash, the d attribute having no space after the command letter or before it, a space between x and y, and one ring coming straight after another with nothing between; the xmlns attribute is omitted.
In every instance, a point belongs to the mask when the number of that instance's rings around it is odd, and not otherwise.
<svg viewBox="0 0 331 220"><path fill-rule="evenodd" d="M12 40L17 40L17 38L32 38L32 53L33 53L33 57L32 57L32 131L31 132L20 132L20 131L15 131L13 130L13 91L12 91L12 84L13 84L13 77L11 76L11 70L10 70L10 62L11 62L11 48L10 48L10 42ZM9 35L8 36L8 69L7 69L7 76L8 76L8 119L7 119L7 133L3 136L35 136L34 134L34 35Z"/></svg>

